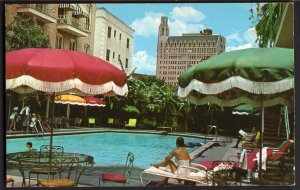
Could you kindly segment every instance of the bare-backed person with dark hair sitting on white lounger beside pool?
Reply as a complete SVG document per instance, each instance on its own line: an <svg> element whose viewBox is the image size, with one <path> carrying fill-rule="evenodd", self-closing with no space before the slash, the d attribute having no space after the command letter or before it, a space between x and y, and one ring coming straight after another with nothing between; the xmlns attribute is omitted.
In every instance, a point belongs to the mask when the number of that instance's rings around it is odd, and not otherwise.
<svg viewBox="0 0 300 190"><path fill-rule="evenodd" d="M176 139L177 149L171 151L169 155L165 158L165 161L158 164L151 164L151 166L154 166L156 168L169 166L172 173L181 176L188 176L190 173L189 169L178 168L179 166L190 166L191 163L190 154L183 146L184 146L184 139L182 137L178 137ZM175 157L176 163L174 163L171 160L173 157Z"/></svg>

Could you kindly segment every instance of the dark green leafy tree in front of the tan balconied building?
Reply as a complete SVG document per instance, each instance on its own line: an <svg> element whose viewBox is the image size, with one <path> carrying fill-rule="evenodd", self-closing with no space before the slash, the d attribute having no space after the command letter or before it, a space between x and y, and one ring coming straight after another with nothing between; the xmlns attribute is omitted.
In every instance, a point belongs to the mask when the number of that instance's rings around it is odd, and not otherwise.
<svg viewBox="0 0 300 190"><path fill-rule="evenodd" d="M5 28L6 51L48 47L50 47L49 36L43 32L41 26L33 18L17 16Z"/></svg>

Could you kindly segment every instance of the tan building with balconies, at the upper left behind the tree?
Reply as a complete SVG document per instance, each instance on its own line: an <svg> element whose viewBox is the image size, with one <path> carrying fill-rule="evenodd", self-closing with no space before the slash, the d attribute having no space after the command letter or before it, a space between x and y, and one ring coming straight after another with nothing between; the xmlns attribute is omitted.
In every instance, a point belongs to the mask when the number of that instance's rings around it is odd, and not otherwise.
<svg viewBox="0 0 300 190"><path fill-rule="evenodd" d="M17 15L35 18L49 35L51 48L93 54L95 4L6 4L5 26Z"/></svg>

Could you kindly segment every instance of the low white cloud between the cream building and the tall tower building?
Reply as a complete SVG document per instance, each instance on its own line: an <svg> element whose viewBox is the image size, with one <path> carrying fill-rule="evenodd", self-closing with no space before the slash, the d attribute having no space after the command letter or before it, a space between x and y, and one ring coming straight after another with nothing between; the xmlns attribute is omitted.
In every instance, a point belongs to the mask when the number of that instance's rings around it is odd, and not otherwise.
<svg viewBox="0 0 300 190"><path fill-rule="evenodd" d="M138 51L132 57L132 69L134 68L137 68L136 73L155 75L156 58L149 55L145 50Z"/></svg>

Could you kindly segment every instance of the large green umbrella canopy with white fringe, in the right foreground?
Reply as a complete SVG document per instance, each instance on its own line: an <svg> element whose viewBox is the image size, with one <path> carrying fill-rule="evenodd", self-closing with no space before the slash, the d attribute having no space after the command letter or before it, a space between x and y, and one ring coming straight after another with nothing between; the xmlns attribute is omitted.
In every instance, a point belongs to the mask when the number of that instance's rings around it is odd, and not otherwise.
<svg viewBox="0 0 300 190"><path fill-rule="evenodd" d="M294 50L251 48L221 53L182 73L178 84L178 96L198 105L293 105Z"/></svg>

